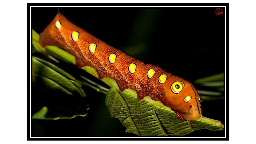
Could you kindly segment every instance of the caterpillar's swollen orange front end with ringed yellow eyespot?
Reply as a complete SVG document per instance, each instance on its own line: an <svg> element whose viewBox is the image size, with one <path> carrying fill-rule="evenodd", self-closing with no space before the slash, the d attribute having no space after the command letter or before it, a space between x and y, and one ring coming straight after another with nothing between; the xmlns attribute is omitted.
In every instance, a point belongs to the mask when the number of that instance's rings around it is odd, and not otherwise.
<svg viewBox="0 0 256 144"><path fill-rule="evenodd" d="M199 94L188 81L171 76L164 83L161 101L174 111L184 113L187 120L196 120L201 117Z"/></svg>

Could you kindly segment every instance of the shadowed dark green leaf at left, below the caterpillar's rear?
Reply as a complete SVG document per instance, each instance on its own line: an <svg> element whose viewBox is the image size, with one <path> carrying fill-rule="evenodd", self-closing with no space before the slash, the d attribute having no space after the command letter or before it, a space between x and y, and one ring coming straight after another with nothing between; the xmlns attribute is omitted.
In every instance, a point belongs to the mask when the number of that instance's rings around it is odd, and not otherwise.
<svg viewBox="0 0 256 144"><path fill-rule="evenodd" d="M33 79L36 79L32 97L37 105L44 105L34 113L33 119L70 119L87 115L86 94L72 75L37 57L32 57L32 68Z"/></svg>

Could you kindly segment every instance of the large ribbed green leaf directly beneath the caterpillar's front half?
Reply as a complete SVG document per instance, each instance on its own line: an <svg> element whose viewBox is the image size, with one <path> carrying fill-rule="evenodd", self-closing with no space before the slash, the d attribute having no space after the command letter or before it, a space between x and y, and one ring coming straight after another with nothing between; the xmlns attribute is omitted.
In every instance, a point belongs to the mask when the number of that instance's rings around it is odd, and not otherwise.
<svg viewBox="0 0 256 144"><path fill-rule="evenodd" d="M105 101L111 117L118 118L127 128L139 136L186 135L195 130L223 130L220 121L201 117L195 121L183 121L170 108L145 97L138 100L136 95L111 88Z"/></svg>

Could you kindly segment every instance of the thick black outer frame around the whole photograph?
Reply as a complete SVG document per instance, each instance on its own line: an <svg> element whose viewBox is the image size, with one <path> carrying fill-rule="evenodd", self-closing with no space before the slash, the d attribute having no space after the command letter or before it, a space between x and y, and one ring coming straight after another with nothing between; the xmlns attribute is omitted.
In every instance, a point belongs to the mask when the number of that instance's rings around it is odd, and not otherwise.
<svg viewBox="0 0 256 144"><path fill-rule="evenodd" d="M32 10L32 8L30 8L31 6L226 6L225 12L226 12L226 76L224 76L224 80L225 80L225 90L226 90L226 124L225 124L225 129L226 129L226 137L223 138L186 138L186 137L180 137L180 138L173 138L173 137L159 137L159 138L134 138L134 137L126 137L126 138L115 138L115 137L109 137L109 138L99 138L99 137L93 137L93 138L33 138L30 137L30 122L31 122L31 118L30 118L30 92L32 93L32 89L30 87L30 84L32 84L32 78L30 81L30 74L32 73L30 71L30 62L32 63L32 61L30 61L30 54L32 55L32 51L30 44L32 45L32 43L30 43L30 36L32 35L32 33L30 33L30 12ZM54 7L51 7L54 8ZM28 81L27 81L27 93L28 93L28 97L27 97L27 140L229 140L229 97L228 97L228 73L229 73L229 65L228 65L228 60L229 60L229 4L228 3L27 3L27 77L28 77Z"/></svg>

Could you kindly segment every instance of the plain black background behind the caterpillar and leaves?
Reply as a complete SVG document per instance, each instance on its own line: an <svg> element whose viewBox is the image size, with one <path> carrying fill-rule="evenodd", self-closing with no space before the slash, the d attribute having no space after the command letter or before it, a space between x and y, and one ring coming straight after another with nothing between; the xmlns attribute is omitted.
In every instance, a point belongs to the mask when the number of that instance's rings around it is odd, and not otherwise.
<svg viewBox="0 0 256 144"><path fill-rule="evenodd" d="M216 8L60 8L60 12L69 21L111 46L192 83L198 78L225 71L225 16L216 15L215 10ZM222 10L225 13L225 9ZM56 14L57 8L33 8L32 28L37 33L42 32ZM73 66L63 69L72 75L78 73L70 70ZM104 103L104 94L85 92L90 105L86 117L33 120L32 136L136 136L126 133L121 122L110 117ZM201 105L203 116L219 120L225 126L224 100L205 101ZM33 111L40 107L41 105L33 107ZM186 136L224 134L224 131L202 129Z"/></svg>

